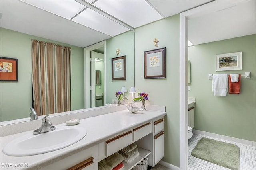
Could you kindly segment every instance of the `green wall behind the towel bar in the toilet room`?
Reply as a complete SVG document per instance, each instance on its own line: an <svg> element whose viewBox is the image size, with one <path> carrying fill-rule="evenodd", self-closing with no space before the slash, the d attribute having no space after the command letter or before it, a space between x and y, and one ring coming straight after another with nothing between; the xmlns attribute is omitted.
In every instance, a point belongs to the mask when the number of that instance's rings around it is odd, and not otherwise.
<svg viewBox="0 0 256 170"><path fill-rule="evenodd" d="M196 98L194 129L256 141L256 35L216 41L188 48L191 84ZM215 55L242 51L242 70L215 71ZM251 72L241 78L240 94L213 96L208 74Z"/></svg>

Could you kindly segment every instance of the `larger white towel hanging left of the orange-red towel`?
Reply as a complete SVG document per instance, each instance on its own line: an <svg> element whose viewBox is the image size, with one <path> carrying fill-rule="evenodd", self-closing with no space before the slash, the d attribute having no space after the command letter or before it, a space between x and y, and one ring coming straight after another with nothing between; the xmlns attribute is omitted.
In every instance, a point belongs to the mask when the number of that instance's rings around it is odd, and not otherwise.
<svg viewBox="0 0 256 170"><path fill-rule="evenodd" d="M228 74L213 74L212 91L214 96L227 96Z"/></svg>

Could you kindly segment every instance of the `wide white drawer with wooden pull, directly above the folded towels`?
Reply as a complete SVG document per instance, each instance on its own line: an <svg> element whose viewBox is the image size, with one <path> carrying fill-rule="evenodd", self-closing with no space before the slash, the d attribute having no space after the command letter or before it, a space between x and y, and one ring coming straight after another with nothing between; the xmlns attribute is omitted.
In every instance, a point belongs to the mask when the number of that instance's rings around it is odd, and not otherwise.
<svg viewBox="0 0 256 170"><path fill-rule="evenodd" d="M106 156L110 156L118 150L123 149L133 143L132 131L128 131L106 141Z"/></svg>

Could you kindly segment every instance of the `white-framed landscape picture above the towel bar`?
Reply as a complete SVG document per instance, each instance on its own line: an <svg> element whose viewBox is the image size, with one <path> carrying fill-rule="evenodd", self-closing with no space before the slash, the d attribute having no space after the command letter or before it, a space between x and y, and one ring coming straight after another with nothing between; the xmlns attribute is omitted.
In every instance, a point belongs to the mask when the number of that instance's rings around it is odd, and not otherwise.
<svg viewBox="0 0 256 170"><path fill-rule="evenodd" d="M216 55L216 71L242 70L242 52Z"/></svg>

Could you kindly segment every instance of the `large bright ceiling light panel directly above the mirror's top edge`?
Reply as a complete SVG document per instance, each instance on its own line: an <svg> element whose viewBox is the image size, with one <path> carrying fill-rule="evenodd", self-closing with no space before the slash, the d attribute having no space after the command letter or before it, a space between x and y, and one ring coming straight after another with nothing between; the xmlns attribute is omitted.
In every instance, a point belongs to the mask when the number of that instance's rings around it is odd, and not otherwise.
<svg viewBox="0 0 256 170"><path fill-rule="evenodd" d="M94 5L134 28L163 18L144 0L98 0Z"/></svg>

